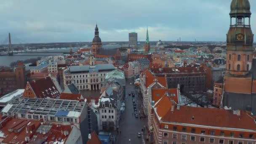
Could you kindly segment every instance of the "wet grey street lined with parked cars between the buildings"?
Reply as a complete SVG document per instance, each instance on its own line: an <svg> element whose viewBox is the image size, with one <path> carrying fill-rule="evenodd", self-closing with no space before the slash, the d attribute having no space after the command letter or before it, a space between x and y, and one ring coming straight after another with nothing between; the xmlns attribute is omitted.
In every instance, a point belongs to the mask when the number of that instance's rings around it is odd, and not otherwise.
<svg viewBox="0 0 256 144"><path fill-rule="evenodd" d="M127 80L126 82L126 98L125 98L125 111L121 115L121 120L119 124L119 133L117 135L116 144L145 144L146 140L146 131L141 137L138 137L138 132L141 132L144 125L147 125L147 119L140 118L142 115L142 101L136 93L133 82L130 85L131 81ZM132 94L129 96L129 93L134 91L135 93L135 103L139 117L135 117L133 109ZM129 139L131 139L129 143Z"/></svg>

